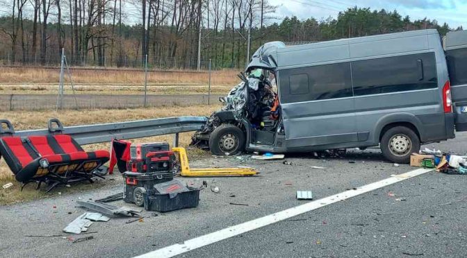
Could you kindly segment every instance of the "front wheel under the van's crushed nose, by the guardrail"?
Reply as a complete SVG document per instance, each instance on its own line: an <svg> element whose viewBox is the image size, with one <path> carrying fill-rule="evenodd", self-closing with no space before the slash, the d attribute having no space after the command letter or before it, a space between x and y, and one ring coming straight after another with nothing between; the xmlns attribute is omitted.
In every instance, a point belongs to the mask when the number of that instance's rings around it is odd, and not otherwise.
<svg viewBox="0 0 467 258"><path fill-rule="evenodd" d="M229 123L224 123L211 132L209 149L214 155L234 155L245 149L245 133Z"/></svg>

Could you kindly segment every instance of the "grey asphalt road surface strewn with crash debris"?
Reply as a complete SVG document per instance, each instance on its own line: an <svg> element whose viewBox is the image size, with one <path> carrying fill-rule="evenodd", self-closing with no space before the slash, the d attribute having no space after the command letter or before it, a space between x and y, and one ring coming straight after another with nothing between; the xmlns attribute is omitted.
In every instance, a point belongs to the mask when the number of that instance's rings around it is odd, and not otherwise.
<svg viewBox="0 0 467 258"><path fill-rule="evenodd" d="M466 144L467 134L457 134L456 139L427 147L465 155ZM0 257L143 255L308 203L296 200L297 190L311 190L319 200L416 169L386 162L377 149L350 150L343 157L324 159L286 155L286 160L292 164L250 160L247 155L192 160L192 167L253 166L261 174L252 178L181 178L195 186L202 180L208 182L199 207L165 214L143 212L142 222L126 223L129 218L97 222L88 230L95 233L72 236L94 236L79 243L49 235L63 234L61 230L83 214L76 200L103 198L120 191L118 173L106 179L108 187L104 189L2 206ZM424 173L183 252L179 257L465 257L466 184L467 175ZM220 192L210 191L211 186L219 187Z"/></svg>

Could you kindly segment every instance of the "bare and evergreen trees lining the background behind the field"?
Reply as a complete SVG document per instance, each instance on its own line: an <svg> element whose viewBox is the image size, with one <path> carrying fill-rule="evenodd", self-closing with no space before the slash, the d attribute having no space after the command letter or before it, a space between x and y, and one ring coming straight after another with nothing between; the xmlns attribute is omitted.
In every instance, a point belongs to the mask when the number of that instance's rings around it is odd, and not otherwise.
<svg viewBox="0 0 467 258"><path fill-rule="evenodd" d="M1 1L4 1L3 3ZM319 42L400 31L450 28L397 10L347 8L337 17L278 22L268 0L0 0L0 58L9 64L241 68L261 44ZM250 44L248 44L248 41ZM199 44L200 42L200 44ZM198 46L200 48L198 49ZM251 50L250 52L248 51ZM3 54L1 54L3 53Z"/></svg>

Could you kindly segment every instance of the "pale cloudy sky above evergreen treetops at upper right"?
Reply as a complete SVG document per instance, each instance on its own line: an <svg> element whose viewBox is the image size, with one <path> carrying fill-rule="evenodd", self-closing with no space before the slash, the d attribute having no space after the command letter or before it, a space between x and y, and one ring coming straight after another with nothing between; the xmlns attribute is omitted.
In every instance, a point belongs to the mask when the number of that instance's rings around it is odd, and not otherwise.
<svg viewBox="0 0 467 258"><path fill-rule="evenodd" d="M398 10L402 17L411 20L436 19L439 24L447 22L452 28L467 28L467 0L270 0L277 8L276 16L297 16L300 19L336 17L339 10L357 5L372 10Z"/></svg>

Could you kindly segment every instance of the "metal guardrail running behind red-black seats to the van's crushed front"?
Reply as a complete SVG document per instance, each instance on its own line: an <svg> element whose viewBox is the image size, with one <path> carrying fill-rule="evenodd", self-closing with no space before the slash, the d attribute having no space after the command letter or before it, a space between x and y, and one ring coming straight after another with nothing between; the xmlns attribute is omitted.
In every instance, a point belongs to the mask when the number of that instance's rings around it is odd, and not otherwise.
<svg viewBox="0 0 467 258"><path fill-rule="evenodd" d="M48 129L17 131L14 132L14 135L19 137L50 135L51 132L56 130L53 127L53 123L56 123L58 130L63 134L71 135L81 145L99 144L113 139L136 139L174 134L174 146L178 146L180 132L199 130L206 123L206 120L206 117L167 117L163 119L62 127L60 121L51 119ZM3 120L3 123L5 123L5 120Z"/></svg>

